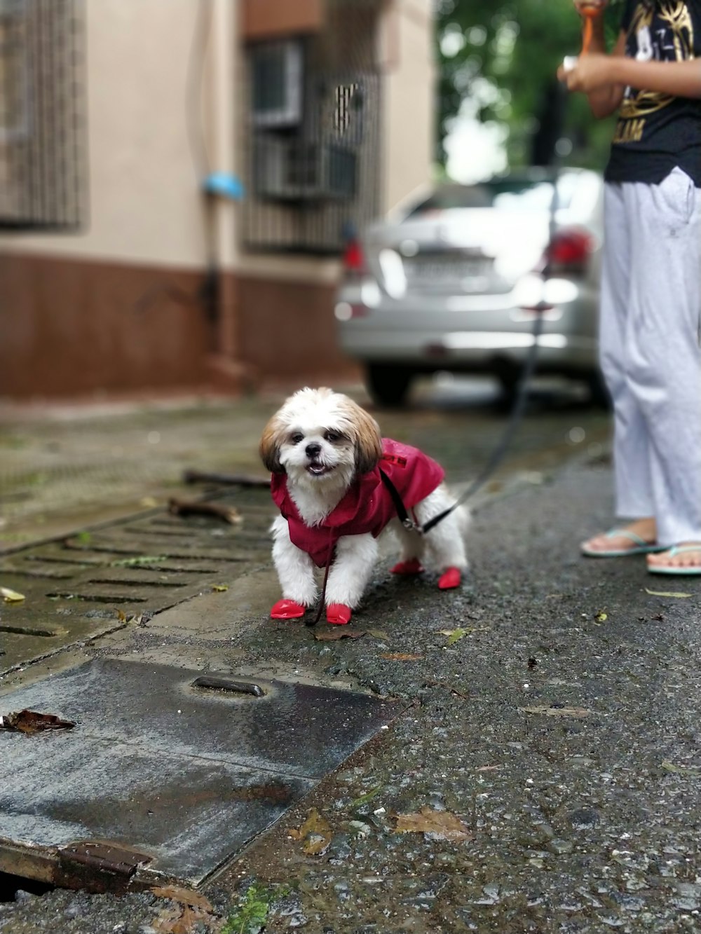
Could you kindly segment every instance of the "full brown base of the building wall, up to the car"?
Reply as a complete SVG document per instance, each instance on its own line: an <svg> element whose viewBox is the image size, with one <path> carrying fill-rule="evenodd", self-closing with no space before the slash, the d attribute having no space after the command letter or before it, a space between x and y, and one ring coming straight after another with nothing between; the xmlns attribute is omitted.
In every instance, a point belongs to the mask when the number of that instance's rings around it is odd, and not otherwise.
<svg viewBox="0 0 701 934"><path fill-rule="evenodd" d="M358 378L336 348L332 287L225 276L214 325L202 285L172 268L0 256L0 397Z"/></svg>

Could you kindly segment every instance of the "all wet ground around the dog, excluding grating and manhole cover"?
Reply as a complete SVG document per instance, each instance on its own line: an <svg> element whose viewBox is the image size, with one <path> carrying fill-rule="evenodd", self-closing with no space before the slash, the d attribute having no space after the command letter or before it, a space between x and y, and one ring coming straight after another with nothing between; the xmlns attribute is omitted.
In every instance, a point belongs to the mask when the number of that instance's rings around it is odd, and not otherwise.
<svg viewBox="0 0 701 934"><path fill-rule="evenodd" d="M410 414L378 416L386 433L443 460L455 483L477 473L504 425L470 400L430 389ZM61 426L63 459L79 462L82 431L95 460L100 432L156 448L170 439L164 474L111 497L110 509L127 509L179 489L185 466L257 470L254 438L274 407L272 397L241 403L240 422L237 405L207 409L208 420L199 409L190 422L206 442L175 410L171 422L143 414L133 435L129 415L79 431L74 420ZM129 661L350 689L399 713L205 882L197 897L207 902L20 894L0 902L0 931L147 934L217 930L228 918L245 932L261 929L255 916L266 931L310 934L701 929L701 587L652 577L642 559L579 558L579 539L610 521L607 431L577 400L536 398L477 502L464 587L392 578L385 554L353 617L360 638L327 642L317 637L330 627L269 620L278 591L261 557L242 573L227 565L226 590L202 587L145 623L122 604L119 629L7 673L0 703L79 663ZM51 432L24 422L24 450ZM138 461L141 449L132 453ZM36 503L23 516L18 506L4 531L26 543L79 510L97 521L100 502Z"/></svg>

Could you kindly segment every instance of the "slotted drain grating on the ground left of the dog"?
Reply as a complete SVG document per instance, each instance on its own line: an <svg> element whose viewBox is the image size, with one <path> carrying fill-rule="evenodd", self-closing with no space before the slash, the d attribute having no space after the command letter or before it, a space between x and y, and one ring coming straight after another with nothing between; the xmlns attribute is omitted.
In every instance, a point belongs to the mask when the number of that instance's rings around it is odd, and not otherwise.
<svg viewBox="0 0 701 934"><path fill-rule="evenodd" d="M25 599L3 606L0 673L119 629L130 616L152 616L269 559L269 491L235 489L218 502L238 510L240 526L150 511L7 555L3 587Z"/></svg>

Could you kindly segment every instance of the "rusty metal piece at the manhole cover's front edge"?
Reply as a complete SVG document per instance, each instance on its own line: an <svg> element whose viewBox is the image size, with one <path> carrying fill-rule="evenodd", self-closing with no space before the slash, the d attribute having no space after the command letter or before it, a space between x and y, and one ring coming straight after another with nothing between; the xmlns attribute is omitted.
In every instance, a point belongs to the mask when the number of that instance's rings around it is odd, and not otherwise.
<svg viewBox="0 0 701 934"><path fill-rule="evenodd" d="M56 884L91 892L123 892L139 866L152 857L121 844L100 841L69 843L58 851Z"/></svg>

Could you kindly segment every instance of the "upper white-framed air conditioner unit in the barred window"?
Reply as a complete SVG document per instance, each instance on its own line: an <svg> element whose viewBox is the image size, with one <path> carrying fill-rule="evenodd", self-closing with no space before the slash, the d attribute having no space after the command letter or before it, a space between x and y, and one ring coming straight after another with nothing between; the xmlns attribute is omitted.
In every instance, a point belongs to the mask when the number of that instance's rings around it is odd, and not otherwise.
<svg viewBox="0 0 701 934"><path fill-rule="evenodd" d="M250 49L251 114L257 127L284 129L302 119L304 55L298 40L262 42Z"/></svg>

